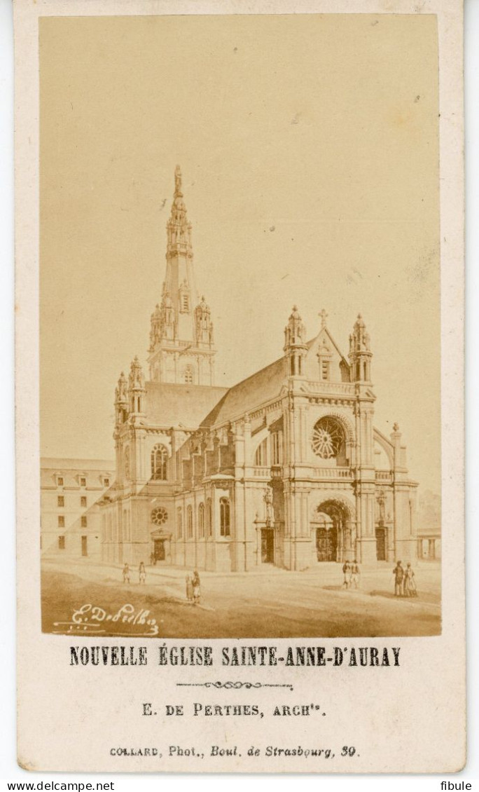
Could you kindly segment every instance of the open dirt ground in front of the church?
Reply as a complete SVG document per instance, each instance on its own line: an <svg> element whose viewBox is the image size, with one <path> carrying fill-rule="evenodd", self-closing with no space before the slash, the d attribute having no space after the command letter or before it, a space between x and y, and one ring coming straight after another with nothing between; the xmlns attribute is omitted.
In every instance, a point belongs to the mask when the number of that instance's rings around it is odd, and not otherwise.
<svg viewBox="0 0 479 792"><path fill-rule="evenodd" d="M44 561L43 630L67 632L58 623L69 623L84 604L109 614L124 604L146 609L158 623L158 638L374 638L441 630L436 563L416 567L417 599L393 596L390 565L363 571L357 591L341 588L340 565L306 573L276 568L260 574L200 573L199 605L186 600L185 574L184 569L146 567L146 584L139 584L137 570L124 584L118 565ZM110 623L101 624L102 637L113 634Z"/></svg>

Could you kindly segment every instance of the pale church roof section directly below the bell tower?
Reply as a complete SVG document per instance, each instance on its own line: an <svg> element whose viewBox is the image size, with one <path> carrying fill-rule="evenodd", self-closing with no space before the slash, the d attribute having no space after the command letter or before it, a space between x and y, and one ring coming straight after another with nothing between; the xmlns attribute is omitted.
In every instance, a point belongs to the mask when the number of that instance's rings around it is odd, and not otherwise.
<svg viewBox="0 0 479 792"><path fill-rule="evenodd" d="M226 394L227 388L208 385L146 383L146 415L149 424L196 429L203 417Z"/></svg>

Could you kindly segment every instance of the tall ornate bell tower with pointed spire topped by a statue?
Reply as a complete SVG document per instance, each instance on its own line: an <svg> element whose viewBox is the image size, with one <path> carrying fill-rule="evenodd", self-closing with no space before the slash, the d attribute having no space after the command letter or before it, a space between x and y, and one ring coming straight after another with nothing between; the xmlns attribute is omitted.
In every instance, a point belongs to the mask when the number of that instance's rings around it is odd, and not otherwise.
<svg viewBox="0 0 479 792"><path fill-rule="evenodd" d="M166 234L162 301L151 314L150 379L157 383L214 385L213 322L210 307L196 290L192 224L184 204L180 166L175 169Z"/></svg>

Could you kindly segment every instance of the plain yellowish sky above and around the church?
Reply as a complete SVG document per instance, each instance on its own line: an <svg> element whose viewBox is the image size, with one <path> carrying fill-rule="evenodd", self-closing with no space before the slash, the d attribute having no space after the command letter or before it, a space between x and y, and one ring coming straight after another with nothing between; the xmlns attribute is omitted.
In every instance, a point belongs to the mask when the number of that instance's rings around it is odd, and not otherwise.
<svg viewBox="0 0 479 792"><path fill-rule="evenodd" d="M40 418L47 456L113 459L146 364L183 172L218 385L276 360L298 305L371 335L375 425L440 488L435 18L40 20Z"/></svg>

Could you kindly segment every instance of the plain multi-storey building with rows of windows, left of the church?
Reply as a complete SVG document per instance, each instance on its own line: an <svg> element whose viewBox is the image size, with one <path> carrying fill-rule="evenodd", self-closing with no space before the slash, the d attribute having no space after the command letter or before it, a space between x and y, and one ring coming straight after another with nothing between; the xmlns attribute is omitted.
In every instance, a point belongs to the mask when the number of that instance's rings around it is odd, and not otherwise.
<svg viewBox="0 0 479 792"><path fill-rule="evenodd" d="M42 555L101 558L98 501L112 486L115 463L106 459L40 460Z"/></svg>

